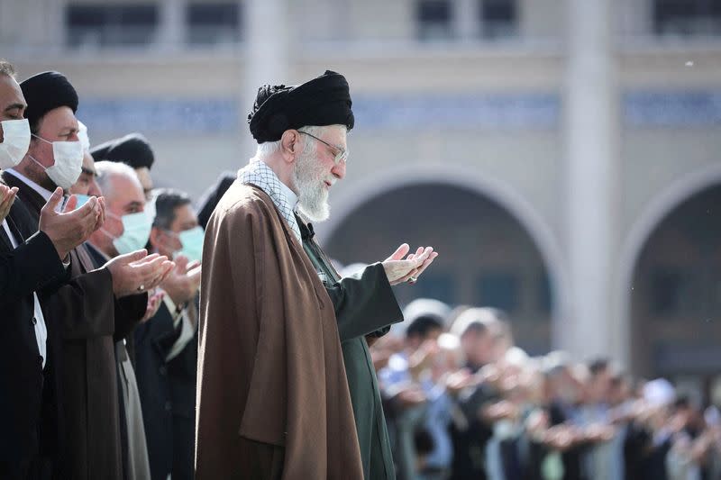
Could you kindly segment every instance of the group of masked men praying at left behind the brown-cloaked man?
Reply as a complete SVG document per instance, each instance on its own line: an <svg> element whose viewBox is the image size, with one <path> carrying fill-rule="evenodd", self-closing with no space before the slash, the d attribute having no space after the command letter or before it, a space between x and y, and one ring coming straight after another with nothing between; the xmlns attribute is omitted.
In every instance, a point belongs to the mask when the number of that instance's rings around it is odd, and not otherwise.
<svg viewBox="0 0 721 480"><path fill-rule="evenodd" d="M77 109L0 61L0 478L193 478L203 227Z"/></svg>

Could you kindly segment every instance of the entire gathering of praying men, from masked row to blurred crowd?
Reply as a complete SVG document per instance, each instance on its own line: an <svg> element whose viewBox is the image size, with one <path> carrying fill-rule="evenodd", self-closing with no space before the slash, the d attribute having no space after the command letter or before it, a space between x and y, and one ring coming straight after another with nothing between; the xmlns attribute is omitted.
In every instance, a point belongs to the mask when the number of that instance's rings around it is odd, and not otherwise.
<svg viewBox="0 0 721 480"><path fill-rule="evenodd" d="M310 221L345 176L342 75L261 86L255 157L196 202L81 102L0 61L0 478L721 479L717 406L529 357L495 308L401 308L432 247L338 273Z"/></svg>

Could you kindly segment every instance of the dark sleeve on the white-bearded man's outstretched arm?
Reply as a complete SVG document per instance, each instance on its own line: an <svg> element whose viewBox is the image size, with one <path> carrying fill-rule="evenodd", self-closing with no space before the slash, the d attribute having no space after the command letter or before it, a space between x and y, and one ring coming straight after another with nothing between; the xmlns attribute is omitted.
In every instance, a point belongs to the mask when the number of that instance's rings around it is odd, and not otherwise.
<svg viewBox="0 0 721 480"><path fill-rule="evenodd" d="M331 297L341 341L387 329L403 321L403 312L380 263L325 287Z"/></svg>

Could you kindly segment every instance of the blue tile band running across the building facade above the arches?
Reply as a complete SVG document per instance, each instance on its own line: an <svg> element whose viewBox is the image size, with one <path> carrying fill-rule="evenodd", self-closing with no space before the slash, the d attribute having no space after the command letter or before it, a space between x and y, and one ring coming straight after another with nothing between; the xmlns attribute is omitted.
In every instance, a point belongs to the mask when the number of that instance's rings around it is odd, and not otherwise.
<svg viewBox="0 0 721 480"><path fill-rule="evenodd" d="M630 128L721 124L721 91L625 92ZM552 93L355 95L356 124L365 129L529 130L561 126L561 97ZM93 131L233 133L245 127L236 98L88 99L78 118Z"/></svg>

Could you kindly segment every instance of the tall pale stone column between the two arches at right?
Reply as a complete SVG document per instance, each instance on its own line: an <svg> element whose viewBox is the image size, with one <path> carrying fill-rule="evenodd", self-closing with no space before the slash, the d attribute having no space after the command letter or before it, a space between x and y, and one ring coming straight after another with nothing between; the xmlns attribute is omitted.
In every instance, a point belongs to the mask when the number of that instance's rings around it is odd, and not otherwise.
<svg viewBox="0 0 721 480"><path fill-rule="evenodd" d="M566 251L570 318L555 325L556 345L579 359L610 355L625 363L626 327L614 318L617 251L618 90L613 0L569 0L564 90Z"/></svg>

